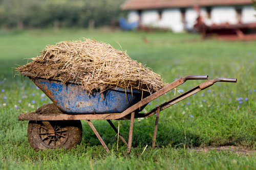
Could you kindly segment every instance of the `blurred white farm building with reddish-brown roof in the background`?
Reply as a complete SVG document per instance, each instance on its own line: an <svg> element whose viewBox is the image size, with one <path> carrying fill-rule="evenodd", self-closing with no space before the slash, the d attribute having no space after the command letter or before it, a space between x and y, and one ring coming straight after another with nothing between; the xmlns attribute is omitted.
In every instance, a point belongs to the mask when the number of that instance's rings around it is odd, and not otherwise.
<svg viewBox="0 0 256 170"><path fill-rule="evenodd" d="M127 0L121 8L130 23L174 32L193 30L199 15L207 26L256 22L252 0Z"/></svg>

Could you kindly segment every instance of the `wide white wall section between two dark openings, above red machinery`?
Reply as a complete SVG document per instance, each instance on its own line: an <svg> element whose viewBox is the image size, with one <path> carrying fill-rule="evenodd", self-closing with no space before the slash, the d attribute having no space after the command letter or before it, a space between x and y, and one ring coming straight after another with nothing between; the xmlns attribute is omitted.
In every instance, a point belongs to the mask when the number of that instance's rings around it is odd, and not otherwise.
<svg viewBox="0 0 256 170"><path fill-rule="evenodd" d="M237 24L237 12L234 7L212 7L211 21L217 25L222 23Z"/></svg>

